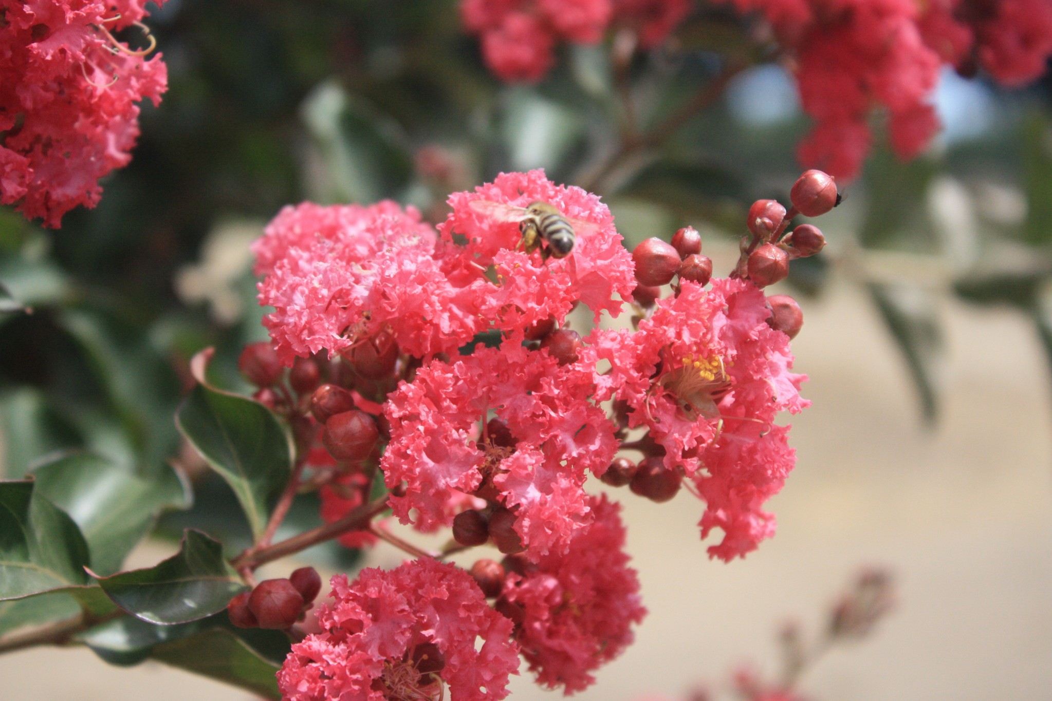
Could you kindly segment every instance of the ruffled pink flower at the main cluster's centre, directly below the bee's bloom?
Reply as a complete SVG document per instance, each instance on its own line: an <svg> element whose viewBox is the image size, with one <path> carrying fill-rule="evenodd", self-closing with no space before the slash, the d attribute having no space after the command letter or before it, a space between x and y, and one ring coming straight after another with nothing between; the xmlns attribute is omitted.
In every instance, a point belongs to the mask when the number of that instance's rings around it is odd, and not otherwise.
<svg viewBox="0 0 1052 701"><path fill-rule="evenodd" d="M394 515L433 530L451 523L452 495L477 494L517 513L528 556L566 552L592 518L587 473L602 474L616 452L592 390L590 371L511 342L425 366L386 405L381 467L389 489L404 489L390 498ZM488 412L510 438L479 430Z"/></svg>

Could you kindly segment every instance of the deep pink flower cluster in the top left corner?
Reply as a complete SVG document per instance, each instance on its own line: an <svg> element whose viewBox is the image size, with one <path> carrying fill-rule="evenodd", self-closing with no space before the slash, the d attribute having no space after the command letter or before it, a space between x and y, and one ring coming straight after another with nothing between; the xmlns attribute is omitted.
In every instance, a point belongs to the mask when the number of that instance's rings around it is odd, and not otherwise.
<svg viewBox="0 0 1052 701"><path fill-rule="evenodd" d="M0 203L57 228L130 161L138 103L159 103L167 85L160 55L145 60L115 38L144 30L145 4L0 2Z"/></svg>

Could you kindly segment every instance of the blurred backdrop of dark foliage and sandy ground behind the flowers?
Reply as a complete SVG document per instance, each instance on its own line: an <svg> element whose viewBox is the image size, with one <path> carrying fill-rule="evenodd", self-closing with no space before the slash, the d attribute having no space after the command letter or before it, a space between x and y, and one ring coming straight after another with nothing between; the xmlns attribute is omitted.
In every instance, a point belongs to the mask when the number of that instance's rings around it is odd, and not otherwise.
<svg viewBox="0 0 1052 701"><path fill-rule="evenodd" d="M684 33L693 43L632 66L641 120L660 122L721 57L748 53L733 16L697 21L705 33ZM285 204L393 198L441 221L448 192L544 167L603 194L629 248L689 223L726 274L749 204L788 202L801 170L807 120L791 77L763 60L647 158L595 178L618 133L601 46L569 47L543 83L508 86L450 0L168 0L149 23L169 90L143 107L132 164L103 183L98 208L56 231L0 210L8 478L65 448L145 465L178 454L173 414L205 346L222 384L246 390L237 354L265 338L247 247ZM948 71L936 143L907 164L878 146L843 188L820 222L828 247L775 290L803 306L793 348L814 401L794 417L797 468L770 503L777 536L745 561L711 562L689 494L664 506L616 494L650 616L579 698L682 697L746 662L773 675L783 622L816 634L867 564L894 573L899 604L807 672L808 697L1052 696L1050 89L1046 78L1004 92ZM224 484L202 476L195 492L190 511L162 521L168 539L130 564L174 552L188 524L243 547ZM300 507L296 523L318 522ZM386 545L309 555L329 572L399 560ZM248 698L84 648L5 655L0 676L17 701L123 701L144 685L158 700ZM512 693L550 696L528 676Z"/></svg>

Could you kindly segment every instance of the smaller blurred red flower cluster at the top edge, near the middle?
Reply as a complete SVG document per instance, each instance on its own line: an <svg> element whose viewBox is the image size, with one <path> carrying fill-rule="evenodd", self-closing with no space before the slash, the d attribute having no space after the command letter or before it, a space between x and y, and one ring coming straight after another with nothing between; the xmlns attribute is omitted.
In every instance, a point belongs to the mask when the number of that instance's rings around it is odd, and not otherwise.
<svg viewBox="0 0 1052 701"><path fill-rule="evenodd" d="M482 37L482 55L499 78L535 82L561 41L594 44L611 25L627 25L640 44L660 44L690 9L689 0L463 0L464 26Z"/></svg>

